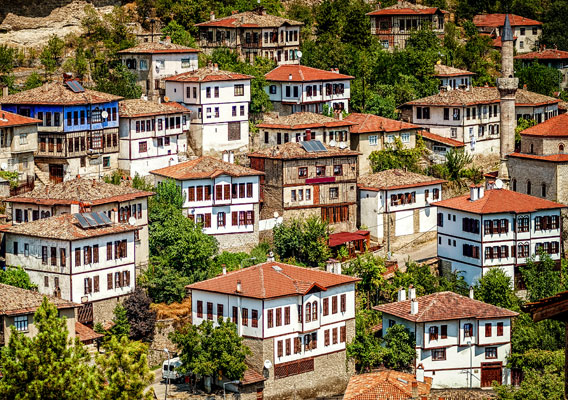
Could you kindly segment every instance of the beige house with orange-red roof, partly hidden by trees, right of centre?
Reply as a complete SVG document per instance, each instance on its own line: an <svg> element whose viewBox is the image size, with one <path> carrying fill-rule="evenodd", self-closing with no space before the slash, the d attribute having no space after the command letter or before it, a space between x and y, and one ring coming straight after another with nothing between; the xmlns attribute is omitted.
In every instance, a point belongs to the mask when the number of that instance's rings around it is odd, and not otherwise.
<svg viewBox="0 0 568 400"><path fill-rule="evenodd" d="M369 156L373 151L384 150L388 145L394 145L399 139L404 148L416 146L416 131L419 126L408 122L396 121L373 114L349 114L345 121L354 124L351 127L351 150L358 151L359 174L371 173Z"/></svg>

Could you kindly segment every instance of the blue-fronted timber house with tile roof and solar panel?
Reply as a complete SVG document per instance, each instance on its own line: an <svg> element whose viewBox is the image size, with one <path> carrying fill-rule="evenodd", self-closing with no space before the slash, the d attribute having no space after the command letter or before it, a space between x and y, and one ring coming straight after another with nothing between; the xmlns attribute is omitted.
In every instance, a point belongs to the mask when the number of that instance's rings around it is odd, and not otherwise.
<svg viewBox="0 0 568 400"><path fill-rule="evenodd" d="M63 82L1 97L2 109L42 121L35 153L38 175L58 183L81 175L100 178L118 168L118 101L108 93ZM48 178L47 178L48 176Z"/></svg>

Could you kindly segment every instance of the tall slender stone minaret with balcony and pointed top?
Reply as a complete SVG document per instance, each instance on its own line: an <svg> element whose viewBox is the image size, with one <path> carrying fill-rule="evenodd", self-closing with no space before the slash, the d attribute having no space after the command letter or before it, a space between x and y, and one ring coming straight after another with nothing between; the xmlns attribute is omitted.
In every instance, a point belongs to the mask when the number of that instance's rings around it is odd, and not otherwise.
<svg viewBox="0 0 568 400"><path fill-rule="evenodd" d="M499 179L508 187L509 169L507 156L515 150L515 94L519 79L513 69L513 30L509 14L505 14L505 25L501 30L501 78L497 78L497 88L501 95L501 138L499 151Z"/></svg>

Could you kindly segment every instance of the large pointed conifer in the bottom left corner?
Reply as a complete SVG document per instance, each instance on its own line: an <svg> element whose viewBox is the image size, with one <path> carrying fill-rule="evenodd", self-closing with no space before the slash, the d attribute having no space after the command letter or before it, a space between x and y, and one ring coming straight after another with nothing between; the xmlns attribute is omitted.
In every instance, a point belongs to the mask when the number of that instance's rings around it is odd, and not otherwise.
<svg viewBox="0 0 568 400"><path fill-rule="evenodd" d="M37 334L11 328L2 349L0 398L16 400L87 400L96 398L97 377L79 339L68 339L67 322L47 298L34 315Z"/></svg>

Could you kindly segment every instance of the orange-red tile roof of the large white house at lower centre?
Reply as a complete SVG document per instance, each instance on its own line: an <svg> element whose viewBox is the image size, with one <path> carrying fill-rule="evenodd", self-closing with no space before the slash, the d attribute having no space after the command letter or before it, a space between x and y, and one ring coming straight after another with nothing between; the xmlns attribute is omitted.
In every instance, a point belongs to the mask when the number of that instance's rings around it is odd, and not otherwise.
<svg viewBox="0 0 568 400"><path fill-rule="evenodd" d="M188 285L187 288L256 299L272 299L303 295L315 286L321 290L327 290L359 280L359 278L347 275L268 261L206 281L196 282ZM237 282L239 281L241 291L237 293Z"/></svg>

